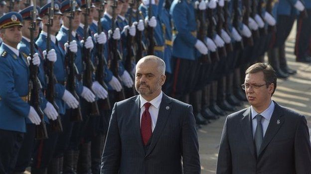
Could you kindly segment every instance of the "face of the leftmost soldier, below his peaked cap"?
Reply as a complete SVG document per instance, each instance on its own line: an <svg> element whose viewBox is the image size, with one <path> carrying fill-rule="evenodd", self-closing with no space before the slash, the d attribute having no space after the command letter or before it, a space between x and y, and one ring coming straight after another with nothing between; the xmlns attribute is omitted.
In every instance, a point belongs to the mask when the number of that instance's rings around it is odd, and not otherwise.
<svg viewBox="0 0 311 174"><path fill-rule="evenodd" d="M5 44L16 48L17 44L21 41L21 26L13 26L2 29L0 32L0 37Z"/></svg>

